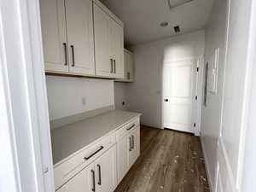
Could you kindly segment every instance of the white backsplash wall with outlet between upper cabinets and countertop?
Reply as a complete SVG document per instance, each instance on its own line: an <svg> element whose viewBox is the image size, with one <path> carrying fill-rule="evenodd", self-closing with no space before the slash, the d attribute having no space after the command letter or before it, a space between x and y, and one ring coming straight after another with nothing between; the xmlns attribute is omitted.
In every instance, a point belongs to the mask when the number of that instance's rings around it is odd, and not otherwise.
<svg viewBox="0 0 256 192"><path fill-rule="evenodd" d="M114 104L113 80L47 76L46 83L50 120Z"/></svg>

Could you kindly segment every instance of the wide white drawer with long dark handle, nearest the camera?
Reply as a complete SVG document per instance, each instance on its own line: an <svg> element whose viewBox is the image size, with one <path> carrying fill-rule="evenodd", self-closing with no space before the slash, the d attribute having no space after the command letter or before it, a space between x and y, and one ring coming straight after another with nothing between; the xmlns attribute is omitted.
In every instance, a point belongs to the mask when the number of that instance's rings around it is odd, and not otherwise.
<svg viewBox="0 0 256 192"><path fill-rule="evenodd" d="M59 189L61 185L66 183L71 177L81 171L85 166L96 160L108 148L115 143L114 133L108 134L106 137L91 143L88 147L80 150L78 153L71 155L60 165L54 168L55 189Z"/></svg>

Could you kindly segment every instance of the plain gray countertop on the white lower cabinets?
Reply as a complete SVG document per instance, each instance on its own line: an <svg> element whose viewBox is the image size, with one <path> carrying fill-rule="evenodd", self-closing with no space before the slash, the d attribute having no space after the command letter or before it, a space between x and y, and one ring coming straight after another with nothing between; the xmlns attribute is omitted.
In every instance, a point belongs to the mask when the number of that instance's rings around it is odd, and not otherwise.
<svg viewBox="0 0 256 192"><path fill-rule="evenodd" d="M112 110L51 131L54 164L125 125L140 113Z"/></svg>

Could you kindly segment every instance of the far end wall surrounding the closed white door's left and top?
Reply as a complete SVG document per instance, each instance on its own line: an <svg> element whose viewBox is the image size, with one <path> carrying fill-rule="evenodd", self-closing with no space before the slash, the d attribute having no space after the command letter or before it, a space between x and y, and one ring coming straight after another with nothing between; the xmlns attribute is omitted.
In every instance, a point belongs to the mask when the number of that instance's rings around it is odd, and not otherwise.
<svg viewBox="0 0 256 192"><path fill-rule="evenodd" d="M128 109L143 113L142 124L161 127L163 61L204 54L203 30L165 38L133 48L135 82L128 85Z"/></svg>

